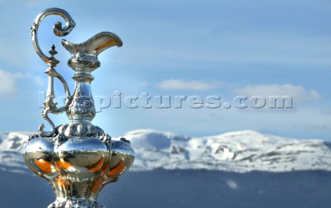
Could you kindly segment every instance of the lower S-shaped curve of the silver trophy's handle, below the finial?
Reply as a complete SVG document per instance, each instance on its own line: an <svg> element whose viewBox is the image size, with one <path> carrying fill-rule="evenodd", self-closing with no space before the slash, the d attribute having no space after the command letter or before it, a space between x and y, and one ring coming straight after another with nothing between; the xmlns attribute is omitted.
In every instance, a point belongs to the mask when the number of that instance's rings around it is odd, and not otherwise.
<svg viewBox="0 0 331 208"><path fill-rule="evenodd" d="M48 117L48 114L61 114L61 113L65 112L68 109L68 106L70 105L70 103L72 101L72 96L70 95L70 90L69 90L68 84L63 79L63 76L61 76L61 74L59 74L55 70L52 72L49 72L48 75L54 76L57 79L59 79L59 81L61 81L61 83L64 87L64 90L66 92L66 103L64 103L63 107L50 107L50 105L46 105L45 110L43 110L43 112L42 112L42 116L50 124L51 130L50 130L50 132L44 131L43 129L44 129L45 125L41 124L38 128L38 133L42 137L49 137L55 133L55 125L50 120L50 117Z"/></svg>

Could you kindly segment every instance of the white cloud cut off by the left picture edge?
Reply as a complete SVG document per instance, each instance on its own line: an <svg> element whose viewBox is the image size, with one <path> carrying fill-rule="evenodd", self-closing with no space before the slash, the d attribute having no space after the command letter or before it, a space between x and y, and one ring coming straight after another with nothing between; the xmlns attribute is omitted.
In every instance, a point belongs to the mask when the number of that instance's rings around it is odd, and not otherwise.
<svg viewBox="0 0 331 208"><path fill-rule="evenodd" d="M11 95L17 92L17 79L21 79L23 74L11 73L0 70L0 95Z"/></svg>

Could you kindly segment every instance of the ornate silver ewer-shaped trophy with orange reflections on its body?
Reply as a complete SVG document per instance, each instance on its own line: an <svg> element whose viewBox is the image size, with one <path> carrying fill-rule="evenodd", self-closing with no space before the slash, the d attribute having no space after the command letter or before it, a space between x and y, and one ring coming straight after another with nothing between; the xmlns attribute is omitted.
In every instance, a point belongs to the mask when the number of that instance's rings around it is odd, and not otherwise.
<svg viewBox="0 0 331 208"><path fill-rule="evenodd" d="M43 118L50 124L50 131L40 125L38 134L30 136L23 153L28 167L35 174L45 178L52 185L56 200L48 208L101 208L97 202L99 192L108 183L116 182L134 161L134 151L130 141L121 138L113 141L103 132L103 129L92 125L95 116L91 83L93 70L100 66L98 55L112 46L121 47L122 41L111 32L100 32L83 43L62 41L62 45L71 54L68 65L74 70L72 79L75 81L73 94L63 77L55 70L59 63L54 55L57 51L52 46L50 56L39 48L37 32L41 21L48 15L59 15L66 25L55 23L53 30L57 36L66 36L75 23L68 12L59 8L44 10L37 16L31 28L31 38L34 50L49 66L48 90L46 93ZM57 107L54 101L54 78L61 81L66 100L62 107ZM55 127L48 114L66 112L69 121ZM37 200L37 199L36 199Z"/></svg>

